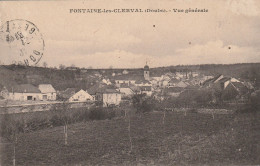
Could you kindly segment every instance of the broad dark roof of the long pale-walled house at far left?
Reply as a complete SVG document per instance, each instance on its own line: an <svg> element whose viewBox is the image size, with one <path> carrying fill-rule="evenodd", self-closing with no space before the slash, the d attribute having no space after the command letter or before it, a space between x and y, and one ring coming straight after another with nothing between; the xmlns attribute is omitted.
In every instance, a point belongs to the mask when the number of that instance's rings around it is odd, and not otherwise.
<svg viewBox="0 0 260 166"><path fill-rule="evenodd" d="M10 88L11 89L8 89L9 92L15 92L15 93L41 93L41 91L37 87L33 86L32 84L15 85Z"/></svg>

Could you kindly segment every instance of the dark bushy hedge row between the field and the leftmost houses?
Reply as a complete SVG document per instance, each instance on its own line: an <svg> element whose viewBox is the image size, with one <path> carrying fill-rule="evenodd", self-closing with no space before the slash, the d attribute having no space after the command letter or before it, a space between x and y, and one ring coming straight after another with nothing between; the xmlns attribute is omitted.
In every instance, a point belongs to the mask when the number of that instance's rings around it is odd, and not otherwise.
<svg viewBox="0 0 260 166"><path fill-rule="evenodd" d="M31 113L26 115L5 114L0 117L1 137L12 139L14 134L31 132L50 127L63 126L65 123L72 124L90 120L112 119L115 116L122 116L122 110L111 108L91 108L78 110L53 109L44 113Z"/></svg>

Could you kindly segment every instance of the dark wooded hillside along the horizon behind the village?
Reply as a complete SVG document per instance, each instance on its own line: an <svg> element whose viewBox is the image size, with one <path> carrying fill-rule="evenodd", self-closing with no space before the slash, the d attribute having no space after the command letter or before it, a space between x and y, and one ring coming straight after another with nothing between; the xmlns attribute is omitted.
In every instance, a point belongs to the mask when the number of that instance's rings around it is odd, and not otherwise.
<svg viewBox="0 0 260 166"><path fill-rule="evenodd" d="M79 69L79 68L43 68L19 65L0 66L0 85L31 83L39 85L50 83L57 90L66 88L88 89L102 78L112 78L112 73L122 73L124 69ZM142 74L143 69L127 69L129 74ZM151 68L153 75L162 75L167 72L200 72L206 75L224 74L245 79L260 85L260 63L229 64L229 65L182 65Z"/></svg>

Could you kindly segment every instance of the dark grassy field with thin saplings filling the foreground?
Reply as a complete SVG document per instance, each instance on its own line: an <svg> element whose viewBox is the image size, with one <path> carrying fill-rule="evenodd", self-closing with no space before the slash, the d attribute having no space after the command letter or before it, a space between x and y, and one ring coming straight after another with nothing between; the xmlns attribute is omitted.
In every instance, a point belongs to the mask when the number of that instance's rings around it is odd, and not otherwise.
<svg viewBox="0 0 260 166"><path fill-rule="evenodd" d="M260 164L258 114L162 112L87 121L19 134L17 165ZM2 141L3 142L3 141ZM1 165L12 165L12 144L1 144Z"/></svg>

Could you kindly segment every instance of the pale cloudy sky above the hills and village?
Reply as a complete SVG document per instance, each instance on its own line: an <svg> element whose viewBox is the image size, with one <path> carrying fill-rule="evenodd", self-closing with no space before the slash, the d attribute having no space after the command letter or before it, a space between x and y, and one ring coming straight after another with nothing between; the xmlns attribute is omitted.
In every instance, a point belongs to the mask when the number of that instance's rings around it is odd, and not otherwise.
<svg viewBox="0 0 260 166"><path fill-rule="evenodd" d="M199 13L70 13L70 9L207 9ZM139 68L260 62L259 0L1 1L0 24L34 23L39 65ZM0 40L1 63L16 56Z"/></svg>

